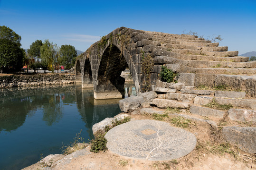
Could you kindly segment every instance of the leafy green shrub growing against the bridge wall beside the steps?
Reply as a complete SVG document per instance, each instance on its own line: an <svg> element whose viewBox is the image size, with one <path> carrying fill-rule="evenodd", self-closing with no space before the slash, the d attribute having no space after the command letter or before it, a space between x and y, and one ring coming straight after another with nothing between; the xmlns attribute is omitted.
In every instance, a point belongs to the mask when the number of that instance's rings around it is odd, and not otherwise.
<svg viewBox="0 0 256 170"><path fill-rule="evenodd" d="M179 74L176 71L172 71L171 69L166 68L165 66L161 67L160 77L161 81L171 83L177 83Z"/></svg>

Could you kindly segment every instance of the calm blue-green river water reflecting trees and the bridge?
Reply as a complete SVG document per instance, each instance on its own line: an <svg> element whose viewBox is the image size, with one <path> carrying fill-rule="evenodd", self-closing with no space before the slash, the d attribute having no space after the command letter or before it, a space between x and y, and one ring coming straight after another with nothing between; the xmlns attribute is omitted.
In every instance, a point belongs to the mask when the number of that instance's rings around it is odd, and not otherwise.
<svg viewBox="0 0 256 170"><path fill-rule="evenodd" d="M0 170L20 170L40 154L61 153L81 129L89 140L95 123L120 112L118 100L96 101L93 90L80 85L2 89Z"/></svg>

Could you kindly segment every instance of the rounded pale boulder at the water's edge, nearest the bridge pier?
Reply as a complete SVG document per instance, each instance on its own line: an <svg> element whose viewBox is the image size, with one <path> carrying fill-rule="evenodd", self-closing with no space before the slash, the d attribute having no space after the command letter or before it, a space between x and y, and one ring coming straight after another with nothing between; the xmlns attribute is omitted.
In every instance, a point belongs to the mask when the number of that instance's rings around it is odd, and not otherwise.
<svg viewBox="0 0 256 170"><path fill-rule="evenodd" d="M120 100L119 107L121 111L135 110L138 107L140 107L142 102L145 102L142 96L132 96L132 97L128 97L126 99Z"/></svg>

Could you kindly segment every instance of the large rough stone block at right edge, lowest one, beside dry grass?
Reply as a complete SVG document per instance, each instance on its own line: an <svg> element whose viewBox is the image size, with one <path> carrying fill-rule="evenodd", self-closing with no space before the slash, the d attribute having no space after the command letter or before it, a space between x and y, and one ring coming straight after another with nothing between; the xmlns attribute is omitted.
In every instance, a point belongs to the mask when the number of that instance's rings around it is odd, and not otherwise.
<svg viewBox="0 0 256 170"><path fill-rule="evenodd" d="M248 153L256 153L256 127L223 127L224 138Z"/></svg>

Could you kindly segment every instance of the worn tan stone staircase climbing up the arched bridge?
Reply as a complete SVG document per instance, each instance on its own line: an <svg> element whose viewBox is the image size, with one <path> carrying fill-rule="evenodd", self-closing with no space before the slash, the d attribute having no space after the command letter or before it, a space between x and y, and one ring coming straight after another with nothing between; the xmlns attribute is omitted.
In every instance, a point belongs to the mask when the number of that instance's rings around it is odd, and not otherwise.
<svg viewBox="0 0 256 170"><path fill-rule="evenodd" d="M185 85L228 85L256 97L256 61L248 61L249 57L194 35L137 31L130 34L136 48L154 58L152 85L165 65L179 72L178 82Z"/></svg>

